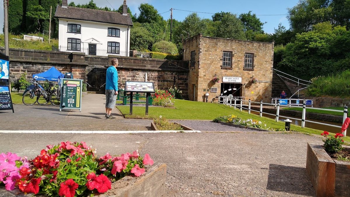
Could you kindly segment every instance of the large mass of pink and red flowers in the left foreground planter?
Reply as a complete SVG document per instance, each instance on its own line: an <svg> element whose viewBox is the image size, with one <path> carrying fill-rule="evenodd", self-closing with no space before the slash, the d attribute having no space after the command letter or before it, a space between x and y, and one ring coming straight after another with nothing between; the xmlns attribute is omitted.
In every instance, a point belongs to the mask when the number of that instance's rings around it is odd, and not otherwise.
<svg viewBox="0 0 350 197"><path fill-rule="evenodd" d="M140 176L152 165L148 154L137 150L113 157L109 153L96 158L96 149L85 142L61 142L48 145L40 155L28 161L13 153L0 155L0 184L25 193L47 196L93 196L111 189L111 183L126 175Z"/></svg>

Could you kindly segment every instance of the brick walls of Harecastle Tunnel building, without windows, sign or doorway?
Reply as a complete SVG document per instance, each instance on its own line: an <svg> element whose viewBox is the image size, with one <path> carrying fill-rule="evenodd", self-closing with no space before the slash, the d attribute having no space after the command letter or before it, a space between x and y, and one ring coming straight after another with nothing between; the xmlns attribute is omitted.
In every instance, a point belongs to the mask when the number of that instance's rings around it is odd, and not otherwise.
<svg viewBox="0 0 350 197"><path fill-rule="evenodd" d="M199 63L190 69L190 83L197 82L198 88L194 100L205 101L205 93L209 92L209 100L220 95L222 77L241 77L241 96L246 100L269 102L272 91L273 48L274 43L241 41L225 38L204 37L198 35L184 42L184 60L190 61L190 50L199 46ZM190 50L186 50L190 49ZM223 51L232 51L232 67L222 68ZM186 52L186 54L185 54ZM245 53L254 54L254 69L244 70ZM198 74L196 73L198 70ZM217 75L220 82L214 84L211 80ZM258 82L249 82L254 76ZM217 87L218 92L210 92L211 87ZM189 93L191 94L191 93ZM191 97L190 97L191 98Z"/></svg>

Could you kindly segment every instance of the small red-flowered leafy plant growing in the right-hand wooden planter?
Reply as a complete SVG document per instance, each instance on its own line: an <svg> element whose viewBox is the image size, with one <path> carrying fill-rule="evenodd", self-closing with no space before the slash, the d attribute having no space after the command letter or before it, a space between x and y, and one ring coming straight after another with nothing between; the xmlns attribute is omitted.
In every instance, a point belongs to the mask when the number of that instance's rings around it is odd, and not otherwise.
<svg viewBox="0 0 350 197"><path fill-rule="evenodd" d="M344 144L344 140L342 137L344 137L344 135L342 133L336 133L333 137L329 136L327 131L324 131L321 135L325 138L322 141L324 142L323 148L327 153L333 154L343 149L342 144Z"/></svg>

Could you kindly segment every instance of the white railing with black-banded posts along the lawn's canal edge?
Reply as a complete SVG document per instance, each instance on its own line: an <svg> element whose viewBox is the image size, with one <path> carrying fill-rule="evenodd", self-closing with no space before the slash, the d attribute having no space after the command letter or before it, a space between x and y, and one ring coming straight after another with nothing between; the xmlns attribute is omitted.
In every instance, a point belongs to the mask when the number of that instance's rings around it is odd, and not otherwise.
<svg viewBox="0 0 350 197"><path fill-rule="evenodd" d="M223 98L223 101L221 101L220 98ZM226 106L230 105L230 107L232 107L232 100L233 100L233 107L235 109L236 109L236 107L239 107L240 111L242 111L242 109L248 110L248 114L250 114L251 111L259 112L260 117L262 117L262 114L273 115L273 116L276 117L275 118L276 122L278 122L279 117L289 118L289 119L293 119L293 120L300 120L302 128L305 127L305 122L311 122L311 123L315 123L315 124L319 124L319 125L326 125L326 126L331 126L331 127L336 127L336 128L342 128L341 126L337 126L337 125L330 125L330 124L326 124L326 123L322 123L322 122L315 122L315 121L306 120L306 109L315 109L315 110L331 111L331 112L343 112L343 124L345 122L345 119L348 117L348 107L347 106L344 107L344 111L341 111L341 110L330 110L330 109L323 109L323 108L314 108L314 107L306 107L306 100L305 99L303 99L302 106L293 106L293 107L303 108L301 119L299 119L299 118L292 118L292 117L285 117L285 116L279 115L279 113L280 113L280 103L275 103L275 104L273 104L273 103L263 103L262 100L260 102L255 102L255 101L251 101L250 99L249 100L243 100L243 98L244 97L236 97L236 98L235 97L232 98L232 97L228 97L228 96L220 96L219 97L220 103L223 102L223 104L226 104ZM240 101L239 105L237 105L237 103L236 103L237 100ZM294 100L300 100L300 99L294 99ZM246 106L246 105L243 105L243 102L247 102L248 103L248 108L243 107L243 106ZM252 103L260 104L260 110L259 111L252 110L251 109L251 104ZM275 106L277 108L276 114L263 112L262 111L263 110L263 108L262 108L263 105ZM346 130L343 132L343 135L346 136Z"/></svg>

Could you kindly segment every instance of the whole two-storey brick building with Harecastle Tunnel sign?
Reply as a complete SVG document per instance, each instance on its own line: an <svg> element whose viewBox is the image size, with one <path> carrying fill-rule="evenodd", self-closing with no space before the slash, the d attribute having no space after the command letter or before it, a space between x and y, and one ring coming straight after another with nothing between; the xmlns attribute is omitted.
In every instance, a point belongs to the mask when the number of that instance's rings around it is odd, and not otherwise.
<svg viewBox="0 0 350 197"><path fill-rule="evenodd" d="M199 34L185 40L183 48L183 60L189 61L189 100L205 101L206 92L209 101L221 94L252 101L271 99L274 42ZM215 76L218 83L212 81ZM253 76L256 83L250 82Z"/></svg>

